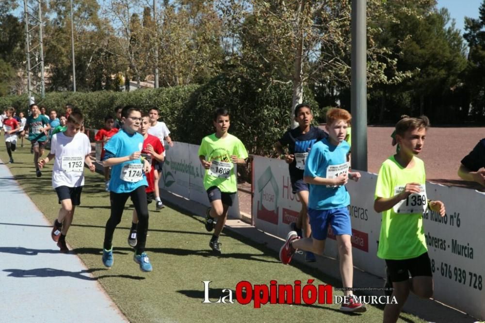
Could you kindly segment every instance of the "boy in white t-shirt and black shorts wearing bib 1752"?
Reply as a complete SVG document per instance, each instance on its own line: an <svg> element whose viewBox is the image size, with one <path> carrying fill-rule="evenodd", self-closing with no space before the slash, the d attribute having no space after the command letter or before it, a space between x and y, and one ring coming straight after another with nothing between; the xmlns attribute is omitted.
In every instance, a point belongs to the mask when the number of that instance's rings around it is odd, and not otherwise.
<svg viewBox="0 0 485 323"><path fill-rule="evenodd" d="M84 185L84 163L91 172L95 165L91 162L91 144L89 138L80 132L84 117L80 112L73 112L67 118L67 129L52 136L50 153L39 161L39 168L54 159L52 187L59 197L61 209L54 221L50 233L52 240L62 253L69 252L65 243L67 230L72 223L74 210L81 204L81 191Z"/></svg>

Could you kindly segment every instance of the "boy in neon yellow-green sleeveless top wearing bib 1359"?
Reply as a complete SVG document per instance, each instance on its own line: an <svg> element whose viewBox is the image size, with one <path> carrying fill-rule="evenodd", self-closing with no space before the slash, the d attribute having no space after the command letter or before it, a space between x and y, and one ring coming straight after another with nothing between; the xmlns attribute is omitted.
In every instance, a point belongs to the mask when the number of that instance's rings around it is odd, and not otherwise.
<svg viewBox="0 0 485 323"><path fill-rule="evenodd" d="M377 257L386 260L386 287L397 304L384 308L383 322L396 322L412 291L433 296L433 276L424 238L422 213L429 208L445 215L441 201L428 200L424 163L418 155L424 146L429 120L405 116L396 124L399 153L384 161L375 187L374 210L382 212ZM411 275L411 279L409 279Z"/></svg>

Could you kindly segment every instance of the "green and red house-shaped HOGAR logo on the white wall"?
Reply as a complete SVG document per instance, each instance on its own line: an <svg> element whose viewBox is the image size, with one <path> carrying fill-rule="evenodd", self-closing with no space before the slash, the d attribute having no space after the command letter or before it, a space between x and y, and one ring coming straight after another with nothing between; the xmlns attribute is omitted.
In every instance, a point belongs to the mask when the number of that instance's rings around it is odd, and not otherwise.
<svg viewBox="0 0 485 323"><path fill-rule="evenodd" d="M258 193L256 216L258 219L277 225L279 188L275 176L271 172L271 166L268 166L258 179Z"/></svg>

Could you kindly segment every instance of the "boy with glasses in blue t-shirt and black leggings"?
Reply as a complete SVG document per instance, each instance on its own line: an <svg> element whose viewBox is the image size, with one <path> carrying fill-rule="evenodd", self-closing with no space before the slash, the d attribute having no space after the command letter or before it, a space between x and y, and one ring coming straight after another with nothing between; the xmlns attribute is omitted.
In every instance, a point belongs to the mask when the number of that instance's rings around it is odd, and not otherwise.
<svg viewBox="0 0 485 323"><path fill-rule="evenodd" d="M113 233L121 222L128 197L131 198L138 214L138 243L133 260L144 272L151 272L152 265L145 252L146 233L148 231L148 204L145 189L148 186L145 173L150 171L150 164L141 156L143 135L137 132L142 121L141 110L126 106L121 112L123 130L118 131L104 146L103 166L111 166L109 185L111 215L106 222L103 245L103 264L113 266Z"/></svg>

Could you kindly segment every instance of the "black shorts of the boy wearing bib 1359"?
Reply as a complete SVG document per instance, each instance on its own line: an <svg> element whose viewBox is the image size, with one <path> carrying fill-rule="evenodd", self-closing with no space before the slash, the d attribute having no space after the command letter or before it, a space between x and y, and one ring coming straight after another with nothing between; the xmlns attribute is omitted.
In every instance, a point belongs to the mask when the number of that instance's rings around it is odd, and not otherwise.
<svg viewBox="0 0 485 323"><path fill-rule="evenodd" d="M391 281L395 283L408 280L409 275L411 277L433 276L431 272L431 260L427 252L416 258L402 260L386 259L386 265L388 266Z"/></svg>

